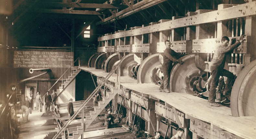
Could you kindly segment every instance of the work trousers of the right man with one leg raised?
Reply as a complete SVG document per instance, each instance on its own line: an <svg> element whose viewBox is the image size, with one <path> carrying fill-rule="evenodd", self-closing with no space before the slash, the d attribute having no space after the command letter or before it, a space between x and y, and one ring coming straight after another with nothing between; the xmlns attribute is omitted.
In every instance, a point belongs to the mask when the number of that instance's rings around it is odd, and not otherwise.
<svg viewBox="0 0 256 139"><path fill-rule="evenodd" d="M231 93L232 80L234 79L234 74L228 70L225 70L223 68L219 68L216 66L211 66L211 71L212 71L212 80L210 84L211 87L209 91L208 102L213 103L215 102L216 88L219 83L219 77L220 76L227 77L224 94L228 94L228 93Z"/></svg>

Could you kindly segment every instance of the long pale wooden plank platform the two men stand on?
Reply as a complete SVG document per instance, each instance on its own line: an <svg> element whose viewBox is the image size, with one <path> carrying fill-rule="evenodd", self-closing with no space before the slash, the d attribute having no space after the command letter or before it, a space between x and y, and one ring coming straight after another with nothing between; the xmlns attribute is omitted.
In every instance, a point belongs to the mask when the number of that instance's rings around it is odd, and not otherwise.
<svg viewBox="0 0 256 139"><path fill-rule="evenodd" d="M80 68L99 77L106 77L108 75L104 70L95 70L94 68L86 67ZM255 139L256 137L256 117L254 116L233 117L228 107L211 107L208 105L207 100L186 93L159 92L158 85L146 83L138 84L137 80L128 78L129 77L121 77L121 86L142 93L142 95L146 94L149 95L149 97L165 101L185 113L188 119L193 117L211 123L242 138ZM109 80L115 82L116 79L116 75L113 74Z"/></svg>

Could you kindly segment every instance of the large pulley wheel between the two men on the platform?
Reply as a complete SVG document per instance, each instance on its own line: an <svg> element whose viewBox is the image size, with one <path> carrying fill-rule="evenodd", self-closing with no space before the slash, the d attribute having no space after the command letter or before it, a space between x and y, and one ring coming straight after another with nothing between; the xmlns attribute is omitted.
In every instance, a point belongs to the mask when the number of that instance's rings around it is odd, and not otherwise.
<svg viewBox="0 0 256 139"><path fill-rule="evenodd" d="M170 73L170 91L194 94L194 84L204 73L195 65L195 54L184 56L180 60L184 63L176 64Z"/></svg>

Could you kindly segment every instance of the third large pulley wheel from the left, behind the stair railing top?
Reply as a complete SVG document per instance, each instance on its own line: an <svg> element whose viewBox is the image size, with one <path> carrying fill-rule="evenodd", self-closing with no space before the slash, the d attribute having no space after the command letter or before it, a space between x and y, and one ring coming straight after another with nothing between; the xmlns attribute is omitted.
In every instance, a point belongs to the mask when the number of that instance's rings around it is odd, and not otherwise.
<svg viewBox="0 0 256 139"><path fill-rule="evenodd" d="M110 72L119 61L119 53L111 55L105 62L105 72Z"/></svg>

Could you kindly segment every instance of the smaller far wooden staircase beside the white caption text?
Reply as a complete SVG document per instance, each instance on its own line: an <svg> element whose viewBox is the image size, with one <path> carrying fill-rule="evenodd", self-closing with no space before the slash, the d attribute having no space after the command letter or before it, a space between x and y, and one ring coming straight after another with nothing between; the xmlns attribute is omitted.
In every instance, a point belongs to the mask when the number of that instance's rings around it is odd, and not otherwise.
<svg viewBox="0 0 256 139"><path fill-rule="evenodd" d="M64 91L64 89L71 83L72 80L76 78L76 75L81 71L81 69L78 66L74 66L74 68L71 69L71 74L68 76L66 81L64 81L61 86L59 86L59 89L57 89L58 96Z"/></svg>

